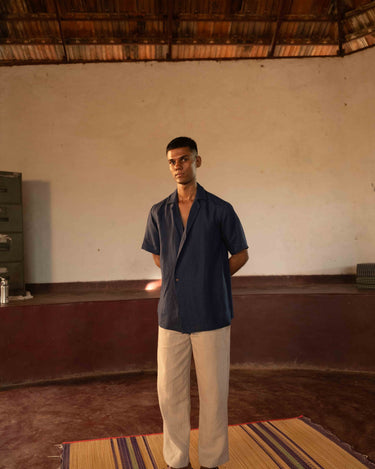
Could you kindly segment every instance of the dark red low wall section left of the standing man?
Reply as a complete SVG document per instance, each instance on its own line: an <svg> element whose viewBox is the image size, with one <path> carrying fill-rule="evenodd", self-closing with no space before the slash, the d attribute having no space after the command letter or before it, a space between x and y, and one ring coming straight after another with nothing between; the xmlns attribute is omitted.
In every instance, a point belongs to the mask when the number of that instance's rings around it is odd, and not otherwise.
<svg viewBox="0 0 375 469"><path fill-rule="evenodd" d="M2 309L2 382L155 368L157 301L97 301Z"/></svg>

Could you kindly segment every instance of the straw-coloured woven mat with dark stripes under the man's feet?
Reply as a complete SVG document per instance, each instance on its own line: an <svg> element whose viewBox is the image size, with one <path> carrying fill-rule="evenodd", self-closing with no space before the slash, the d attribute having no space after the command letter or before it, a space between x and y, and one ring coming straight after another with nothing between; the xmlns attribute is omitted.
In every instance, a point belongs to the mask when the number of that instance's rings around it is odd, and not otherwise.
<svg viewBox="0 0 375 469"><path fill-rule="evenodd" d="M165 469L163 435L63 443L62 469ZM229 427L230 462L220 469L375 469L305 417ZM198 430L191 431L191 464L199 469Z"/></svg>

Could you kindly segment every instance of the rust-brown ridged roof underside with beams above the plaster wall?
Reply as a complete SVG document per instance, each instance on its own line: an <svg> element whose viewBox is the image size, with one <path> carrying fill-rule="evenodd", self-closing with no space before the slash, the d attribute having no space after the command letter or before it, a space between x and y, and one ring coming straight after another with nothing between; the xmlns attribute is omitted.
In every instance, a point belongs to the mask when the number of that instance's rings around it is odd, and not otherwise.
<svg viewBox="0 0 375 469"><path fill-rule="evenodd" d="M0 64L336 56L375 43L375 1L0 0Z"/></svg>

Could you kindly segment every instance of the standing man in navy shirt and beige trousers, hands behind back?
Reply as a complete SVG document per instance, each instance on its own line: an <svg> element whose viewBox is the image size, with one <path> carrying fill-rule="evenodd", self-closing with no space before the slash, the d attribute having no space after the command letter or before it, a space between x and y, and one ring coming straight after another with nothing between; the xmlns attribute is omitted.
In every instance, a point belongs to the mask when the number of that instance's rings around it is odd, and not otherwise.
<svg viewBox="0 0 375 469"><path fill-rule="evenodd" d="M247 262L248 246L232 206L197 183L202 158L195 141L175 138L166 153L177 190L151 208L142 245L162 272L158 396L163 454L168 469L191 468L193 355L200 403L199 462L201 469L211 469L229 460L230 276Z"/></svg>

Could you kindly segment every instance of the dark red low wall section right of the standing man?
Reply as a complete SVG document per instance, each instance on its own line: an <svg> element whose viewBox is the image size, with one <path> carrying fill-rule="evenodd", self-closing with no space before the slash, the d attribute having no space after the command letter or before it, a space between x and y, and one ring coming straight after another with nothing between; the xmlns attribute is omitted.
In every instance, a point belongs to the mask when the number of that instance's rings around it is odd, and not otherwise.
<svg viewBox="0 0 375 469"><path fill-rule="evenodd" d="M232 363L375 371L375 294L234 298Z"/></svg>

